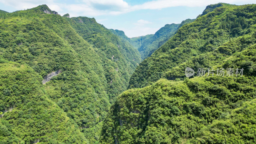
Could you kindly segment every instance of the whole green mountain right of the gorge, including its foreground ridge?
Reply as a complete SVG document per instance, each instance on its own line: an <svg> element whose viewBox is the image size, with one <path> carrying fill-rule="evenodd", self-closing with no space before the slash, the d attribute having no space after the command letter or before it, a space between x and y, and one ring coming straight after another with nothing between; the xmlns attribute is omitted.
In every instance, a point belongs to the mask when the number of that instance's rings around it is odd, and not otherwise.
<svg viewBox="0 0 256 144"><path fill-rule="evenodd" d="M256 142L256 4L215 5L140 63L101 143ZM195 75L186 78L186 67Z"/></svg>

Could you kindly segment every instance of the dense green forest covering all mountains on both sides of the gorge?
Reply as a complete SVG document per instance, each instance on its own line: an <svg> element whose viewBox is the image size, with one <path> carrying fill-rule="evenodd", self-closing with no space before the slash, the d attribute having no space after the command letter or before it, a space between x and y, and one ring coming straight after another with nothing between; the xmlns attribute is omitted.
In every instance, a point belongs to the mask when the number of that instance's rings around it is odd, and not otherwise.
<svg viewBox="0 0 256 144"><path fill-rule="evenodd" d="M256 143L255 76L256 4L133 38L47 5L0 10L0 144Z"/></svg>

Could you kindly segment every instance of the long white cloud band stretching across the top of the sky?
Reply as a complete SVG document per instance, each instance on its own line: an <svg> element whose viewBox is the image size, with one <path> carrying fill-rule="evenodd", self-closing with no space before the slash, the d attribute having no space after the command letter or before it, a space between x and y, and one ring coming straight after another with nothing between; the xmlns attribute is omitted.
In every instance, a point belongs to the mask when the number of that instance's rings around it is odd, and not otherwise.
<svg viewBox="0 0 256 144"><path fill-rule="evenodd" d="M54 2L54 0L0 0L0 3L6 4L17 9L28 9L41 4L47 4L52 10L59 13L69 13L74 16L99 16L99 15L119 15L122 13L142 10L142 9L162 9L175 6L205 6L208 4L219 3L219 0L154 0L143 4L129 5L124 0L82 0L80 4L65 4ZM245 0L225 0L224 3L244 3ZM255 0L247 0L246 3L255 3Z"/></svg>

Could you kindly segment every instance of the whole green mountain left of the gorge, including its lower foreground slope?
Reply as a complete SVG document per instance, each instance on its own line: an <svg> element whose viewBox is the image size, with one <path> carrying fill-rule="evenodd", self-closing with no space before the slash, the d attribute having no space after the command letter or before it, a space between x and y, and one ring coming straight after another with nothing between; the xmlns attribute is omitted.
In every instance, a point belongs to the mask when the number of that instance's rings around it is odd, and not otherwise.
<svg viewBox="0 0 256 144"><path fill-rule="evenodd" d="M94 18L61 17L47 5L0 13L0 55L2 143L96 142L140 62Z"/></svg>

